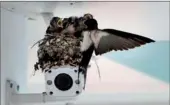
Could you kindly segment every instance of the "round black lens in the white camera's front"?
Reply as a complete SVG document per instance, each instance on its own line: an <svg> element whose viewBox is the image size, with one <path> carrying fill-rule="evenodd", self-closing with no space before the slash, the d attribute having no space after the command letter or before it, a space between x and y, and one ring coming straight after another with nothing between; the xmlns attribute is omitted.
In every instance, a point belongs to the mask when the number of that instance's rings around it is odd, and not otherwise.
<svg viewBox="0 0 170 105"><path fill-rule="evenodd" d="M73 85L73 79L70 75L61 73L56 76L54 80L54 84L56 88L58 88L61 91L69 90Z"/></svg>

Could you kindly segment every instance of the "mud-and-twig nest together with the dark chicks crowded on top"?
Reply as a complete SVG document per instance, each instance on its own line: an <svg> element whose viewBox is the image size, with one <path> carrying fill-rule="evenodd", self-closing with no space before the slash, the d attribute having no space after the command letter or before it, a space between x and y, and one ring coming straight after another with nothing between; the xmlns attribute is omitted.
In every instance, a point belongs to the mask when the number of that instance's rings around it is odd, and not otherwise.
<svg viewBox="0 0 170 105"><path fill-rule="evenodd" d="M59 18L53 17L46 30L45 37L38 41L37 57L38 62L34 65L34 70L42 71L52 67L73 66L78 67L82 59L80 52L80 43L82 41L81 31L83 30L83 21L93 18L91 14L85 14L83 17ZM74 25L76 33L74 35L63 34L70 23ZM61 28L61 26L64 26ZM37 44L36 43L36 44Z"/></svg>

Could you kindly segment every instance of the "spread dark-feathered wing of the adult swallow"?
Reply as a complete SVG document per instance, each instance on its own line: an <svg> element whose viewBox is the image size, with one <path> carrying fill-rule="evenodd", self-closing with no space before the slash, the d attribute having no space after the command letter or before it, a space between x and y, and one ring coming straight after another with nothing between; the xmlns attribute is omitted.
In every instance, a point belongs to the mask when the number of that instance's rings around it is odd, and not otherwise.
<svg viewBox="0 0 170 105"><path fill-rule="evenodd" d="M96 55L101 55L109 51L122 51L139 47L146 43L155 42L154 40L114 29L104 29L92 33L92 41L95 45Z"/></svg>

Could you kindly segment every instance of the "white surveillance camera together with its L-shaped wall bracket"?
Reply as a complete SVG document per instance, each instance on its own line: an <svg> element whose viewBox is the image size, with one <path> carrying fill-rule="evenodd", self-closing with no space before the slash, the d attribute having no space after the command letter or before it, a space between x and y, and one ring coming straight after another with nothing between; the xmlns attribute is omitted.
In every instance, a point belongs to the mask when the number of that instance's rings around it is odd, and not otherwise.
<svg viewBox="0 0 170 105"><path fill-rule="evenodd" d="M56 80L56 78L58 78ZM61 87L56 87L56 81ZM64 84L62 84L64 81ZM71 81L71 82L70 82ZM19 85L12 80L6 82L6 104L40 104L48 102L74 103L83 92L84 75L80 73L78 81L78 67L63 66L51 68L45 73L46 91L43 93L21 94ZM71 83L71 85L70 85ZM63 86L63 87L62 87ZM62 90L64 89L64 90ZM51 94L52 93L52 94Z"/></svg>

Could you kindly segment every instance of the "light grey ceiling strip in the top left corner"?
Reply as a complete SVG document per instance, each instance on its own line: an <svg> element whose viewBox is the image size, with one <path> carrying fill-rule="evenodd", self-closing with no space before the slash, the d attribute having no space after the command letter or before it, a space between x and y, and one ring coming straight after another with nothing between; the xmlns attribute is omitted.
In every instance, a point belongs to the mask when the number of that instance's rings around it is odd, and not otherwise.
<svg viewBox="0 0 170 105"><path fill-rule="evenodd" d="M36 16L40 13L52 13L61 4L72 6L77 3L80 2L2 2L1 7L26 16Z"/></svg>

